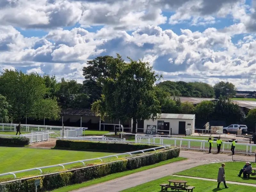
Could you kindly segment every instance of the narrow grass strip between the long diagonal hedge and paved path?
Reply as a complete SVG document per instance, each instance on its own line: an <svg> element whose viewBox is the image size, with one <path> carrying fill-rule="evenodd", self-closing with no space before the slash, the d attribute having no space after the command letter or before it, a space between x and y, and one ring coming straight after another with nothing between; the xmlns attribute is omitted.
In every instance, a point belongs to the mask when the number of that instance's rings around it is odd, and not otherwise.
<svg viewBox="0 0 256 192"><path fill-rule="evenodd" d="M169 164L169 163L173 163L173 162L177 162L177 161L181 161L181 160L185 160L185 159L186 158L183 158L183 157L168 159L166 161L162 161L160 163L156 163L156 164L153 164L153 165L144 166L144 167L141 167L139 169L134 169L134 170L120 172L120 173L114 173L114 174L111 174L111 175L107 175L105 177L101 177L99 179L86 181L86 182L83 182L83 183L80 183L80 184L69 185L69 186L66 186L66 187L55 189L52 192L68 192L68 191L76 190L76 189L83 188L83 187L88 187L88 186L91 186L91 185L96 185L96 184L103 183L103 182L106 182L106 181L109 181L109 180L113 180L113 179L116 179L116 178L123 177L125 175L130 175L132 173L145 171L145 170L148 170L148 169L151 169L151 168L154 168L154 167L158 167L158 166L161 166L161 165L164 165L164 164Z"/></svg>

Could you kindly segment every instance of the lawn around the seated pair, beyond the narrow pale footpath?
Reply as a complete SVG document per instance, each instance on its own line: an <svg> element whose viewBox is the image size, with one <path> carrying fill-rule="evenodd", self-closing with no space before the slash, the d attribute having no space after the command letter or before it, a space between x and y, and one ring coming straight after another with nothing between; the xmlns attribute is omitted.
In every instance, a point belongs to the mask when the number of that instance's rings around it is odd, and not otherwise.
<svg viewBox="0 0 256 192"><path fill-rule="evenodd" d="M225 175L227 181L236 181L242 183L252 183L256 184L256 177L252 176L250 179L244 179L243 174L242 177L238 177L240 169L244 167L245 162L225 162ZM184 175L184 176L192 176L192 177L203 177L209 179L217 179L219 167L221 163L213 163L207 165L200 165L197 167L193 167L191 169L175 173L176 175ZM254 166L252 164L252 166Z"/></svg>

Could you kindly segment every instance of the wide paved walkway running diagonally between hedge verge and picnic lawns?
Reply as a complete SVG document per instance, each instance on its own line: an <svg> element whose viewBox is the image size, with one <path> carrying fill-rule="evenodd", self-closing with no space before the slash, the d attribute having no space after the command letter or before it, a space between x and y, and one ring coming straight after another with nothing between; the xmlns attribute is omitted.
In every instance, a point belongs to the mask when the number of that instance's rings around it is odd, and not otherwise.
<svg viewBox="0 0 256 192"><path fill-rule="evenodd" d="M210 164L224 161L231 161L232 156L226 154L208 154L197 151L180 151L180 157L189 158L185 161L179 161L171 164L165 164L159 167L148 169L145 171L126 175L124 177L110 180L105 183L100 183L86 188L81 188L73 192L119 192L152 180L160 179L162 177L172 175L175 172L180 172L201 164Z"/></svg>

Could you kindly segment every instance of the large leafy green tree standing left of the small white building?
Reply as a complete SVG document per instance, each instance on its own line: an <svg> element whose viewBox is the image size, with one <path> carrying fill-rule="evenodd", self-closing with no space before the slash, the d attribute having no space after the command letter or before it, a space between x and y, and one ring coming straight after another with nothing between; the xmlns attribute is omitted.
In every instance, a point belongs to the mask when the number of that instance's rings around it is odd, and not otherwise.
<svg viewBox="0 0 256 192"><path fill-rule="evenodd" d="M161 113L159 90L154 84L162 76L155 74L148 62L128 59L128 63L119 55L107 59L111 73L102 81L103 95L92 109L112 119L133 119L132 132L135 133L138 120L154 119Z"/></svg>

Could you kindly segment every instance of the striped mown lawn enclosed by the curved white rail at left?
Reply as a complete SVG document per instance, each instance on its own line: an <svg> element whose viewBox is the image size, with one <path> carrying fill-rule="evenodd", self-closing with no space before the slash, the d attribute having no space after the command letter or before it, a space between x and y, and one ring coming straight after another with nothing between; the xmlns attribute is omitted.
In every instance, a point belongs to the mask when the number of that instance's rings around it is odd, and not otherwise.
<svg viewBox="0 0 256 192"><path fill-rule="evenodd" d="M116 153L102 153L102 152L87 152L87 151L69 151L69 150L56 150L56 149L35 149L35 148L16 148L16 147L0 147L0 173L20 171L24 169L55 165L61 163L68 163L72 161L79 161L84 159L91 159L96 157L103 157L114 155ZM119 156L124 157L124 156ZM104 161L110 161L116 157L110 157L103 159ZM100 160L85 162L85 164L91 164L93 162L99 162ZM82 163L65 165L64 167L71 168L74 166L82 165ZM62 169L61 167L53 167L43 169L43 172ZM39 171L29 171L17 173L17 177L24 175L38 175ZM13 176L6 176L13 177ZM0 177L0 179L3 177Z"/></svg>

